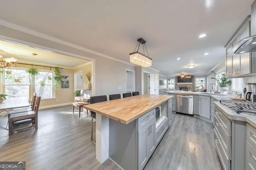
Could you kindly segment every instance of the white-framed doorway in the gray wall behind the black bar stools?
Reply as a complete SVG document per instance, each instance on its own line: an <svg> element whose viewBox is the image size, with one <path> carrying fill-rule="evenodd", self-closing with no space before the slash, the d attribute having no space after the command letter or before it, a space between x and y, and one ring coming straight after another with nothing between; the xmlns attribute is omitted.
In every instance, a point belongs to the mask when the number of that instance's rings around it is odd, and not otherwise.
<svg viewBox="0 0 256 170"><path fill-rule="evenodd" d="M125 69L125 92L135 92L135 70Z"/></svg>

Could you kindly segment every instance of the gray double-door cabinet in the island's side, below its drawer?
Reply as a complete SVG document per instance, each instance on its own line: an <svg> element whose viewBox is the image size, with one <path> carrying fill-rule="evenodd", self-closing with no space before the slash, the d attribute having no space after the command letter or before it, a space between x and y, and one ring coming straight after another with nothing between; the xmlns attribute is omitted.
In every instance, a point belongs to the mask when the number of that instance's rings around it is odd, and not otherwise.
<svg viewBox="0 0 256 170"><path fill-rule="evenodd" d="M142 170L151 154L156 149L155 143L156 119L153 119L138 132L138 170Z"/></svg>

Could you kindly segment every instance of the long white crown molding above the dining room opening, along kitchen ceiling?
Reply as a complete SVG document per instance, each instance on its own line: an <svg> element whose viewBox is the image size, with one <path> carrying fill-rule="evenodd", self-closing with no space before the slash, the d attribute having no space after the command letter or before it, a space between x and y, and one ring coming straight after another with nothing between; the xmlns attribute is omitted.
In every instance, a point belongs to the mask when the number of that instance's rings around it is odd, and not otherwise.
<svg viewBox="0 0 256 170"><path fill-rule="evenodd" d="M114 57L110 57L108 55L104 55L102 53L98 53L96 51L92 51L90 49L86 49L84 47L81 47L81 46L78 46L78 45L75 45L75 44L72 44L72 43L68 43L67 41L63 41L61 39L57 39L57 38L54 38L54 37L51 37L49 35L46 35L46 34L43 34L43 33L39 33L37 31L34 31L32 29L28 29L26 27L22 27L20 25L16 25L14 23L10 23L8 21L5 21L5 20L0 20L0 25L3 25L5 27L9 27L11 29L15 29L17 31L21 31L21 32L24 32L24 33L28 33L30 35L34 35L36 37L40 37L40 38L43 38L43 39L47 39L49 41L53 41L55 43L59 43L59 44L62 44L62 45L66 45L68 47L72 47L74 49L79 49L79 50L82 50L82 51L85 51L85 52L88 52L88 53L91 53L91 54L94 54L94 55L98 55L98 56L101 56L101 57L105 57L107 59L110 59L110 60L114 60L114 61L118 61L120 63L124 63L124 64L128 64L128 65L131 65L131 66L135 66L134 64L131 64L131 63L128 63L126 61L122 61L120 59L116 59Z"/></svg>

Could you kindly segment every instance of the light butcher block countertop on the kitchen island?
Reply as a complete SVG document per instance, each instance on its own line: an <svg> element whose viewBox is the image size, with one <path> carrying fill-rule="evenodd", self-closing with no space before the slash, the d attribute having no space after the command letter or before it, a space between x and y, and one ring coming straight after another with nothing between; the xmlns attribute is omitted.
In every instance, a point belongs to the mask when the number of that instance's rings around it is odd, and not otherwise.
<svg viewBox="0 0 256 170"><path fill-rule="evenodd" d="M142 94L90 104L84 106L84 108L109 117L110 119L128 124L171 98L173 96Z"/></svg>

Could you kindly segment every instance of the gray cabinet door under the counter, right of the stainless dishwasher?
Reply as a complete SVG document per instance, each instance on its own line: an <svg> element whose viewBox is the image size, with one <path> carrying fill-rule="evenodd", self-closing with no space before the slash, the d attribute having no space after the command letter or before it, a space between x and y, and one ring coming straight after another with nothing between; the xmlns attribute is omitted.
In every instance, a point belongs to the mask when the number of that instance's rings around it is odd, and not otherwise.
<svg viewBox="0 0 256 170"><path fill-rule="evenodd" d="M210 119L210 97L199 96L199 115Z"/></svg>

